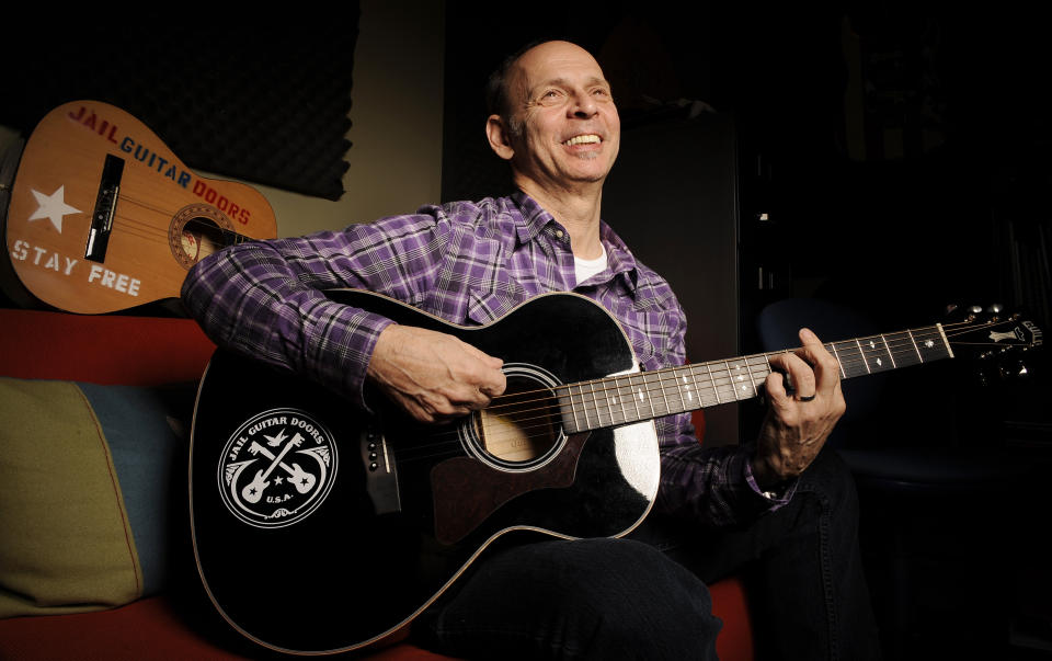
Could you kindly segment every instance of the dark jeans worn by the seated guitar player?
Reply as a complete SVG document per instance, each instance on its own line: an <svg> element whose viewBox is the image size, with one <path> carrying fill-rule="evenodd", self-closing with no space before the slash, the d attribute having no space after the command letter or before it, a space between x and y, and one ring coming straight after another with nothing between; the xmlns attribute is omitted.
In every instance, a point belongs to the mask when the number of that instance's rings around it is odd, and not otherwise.
<svg viewBox="0 0 1052 661"><path fill-rule="evenodd" d="M467 659L714 659L706 583L740 574L762 659L876 659L857 518L850 474L823 451L788 505L742 529L651 516L628 539L483 556L415 632Z"/></svg>

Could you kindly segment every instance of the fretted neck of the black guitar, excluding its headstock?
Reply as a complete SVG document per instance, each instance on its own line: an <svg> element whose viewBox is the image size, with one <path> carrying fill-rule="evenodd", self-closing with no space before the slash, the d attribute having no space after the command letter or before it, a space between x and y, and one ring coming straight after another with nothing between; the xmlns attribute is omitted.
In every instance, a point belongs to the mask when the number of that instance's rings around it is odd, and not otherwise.
<svg viewBox="0 0 1052 661"><path fill-rule="evenodd" d="M824 346L839 362L841 378L953 357L940 324ZM560 415L575 433L752 399L771 373L770 358L789 351L572 384L559 394Z"/></svg>

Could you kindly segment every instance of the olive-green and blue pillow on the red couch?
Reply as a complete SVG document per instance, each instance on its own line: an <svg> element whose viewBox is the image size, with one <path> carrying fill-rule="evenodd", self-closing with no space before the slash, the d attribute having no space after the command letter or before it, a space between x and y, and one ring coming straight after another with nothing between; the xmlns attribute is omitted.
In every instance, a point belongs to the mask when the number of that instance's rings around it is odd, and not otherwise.
<svg viewBox="0 0 1052 661"><path fill-rule="evenodd" d="M0 377L0 617L161 589L190 412L164 389Z"/></svg>

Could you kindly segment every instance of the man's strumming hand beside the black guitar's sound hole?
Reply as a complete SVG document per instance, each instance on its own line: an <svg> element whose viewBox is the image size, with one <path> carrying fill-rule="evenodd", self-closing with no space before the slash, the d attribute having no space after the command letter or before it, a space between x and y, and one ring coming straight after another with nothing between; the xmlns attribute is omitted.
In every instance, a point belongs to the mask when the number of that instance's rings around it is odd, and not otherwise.
<svg viewBox="0 0 1052 661"><path fill-rule="evenodd" d="M421 422L447 422L504 392L500 358L453 335L392 324L376 341L366 375Z"/></svg>

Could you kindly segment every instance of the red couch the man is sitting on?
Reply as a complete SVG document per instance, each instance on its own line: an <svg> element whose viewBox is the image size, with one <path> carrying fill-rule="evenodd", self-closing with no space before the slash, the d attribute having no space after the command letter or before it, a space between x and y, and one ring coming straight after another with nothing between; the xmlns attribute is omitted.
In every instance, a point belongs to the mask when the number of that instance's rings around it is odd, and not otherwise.
<svg viewBox="0 0 1052 661"><path fill-rule="evenodd" d="M84 317L0 309L0 376L156 387L184 384L202 374L214 345L186 319L130 316ZM187 407L190 402L187 401ZM190 411L186 411L188 417ZM5 420L5 425L18 424ZM129 490L124 490L128 498ZM179 503L181 504L181 503ZM0 501L0 516L3 502ZM188 537L188 535L187 535ZM185 550L185 549L183 549ZM0 619L0 659L243 659L259 650L208 613L195 577L173 578L158 594L84 613L24 615ZM175 585L179 590L171 590ZM0 585L0 591L7 589ZM741 584L711 586L713 611L724 628L721 659L752 659L752 628ZM173 594L180 594L174 597ZM184 594L185 593L185 594ZM186 597L191 595L191 599ZM43 611L47 613L46 609ZM375 652L375 659L444 659L408 642Z"/></svg>

